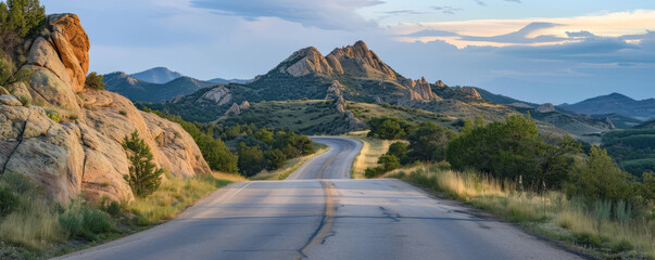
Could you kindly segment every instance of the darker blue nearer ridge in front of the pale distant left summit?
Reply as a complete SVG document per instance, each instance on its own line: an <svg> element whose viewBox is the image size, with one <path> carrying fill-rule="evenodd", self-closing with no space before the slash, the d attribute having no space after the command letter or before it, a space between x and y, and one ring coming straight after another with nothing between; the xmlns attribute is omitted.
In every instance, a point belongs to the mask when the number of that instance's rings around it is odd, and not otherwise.
<svg viewBox="0 0 655 260"><path fill-rule="evenodd" d="M131 101L161 103L175 96L193 93L200 89L216 86L216 83L189 77L178 77L166 83L151 83L137 79L125 73L104 75L104 89L127 96Z"/></svg>

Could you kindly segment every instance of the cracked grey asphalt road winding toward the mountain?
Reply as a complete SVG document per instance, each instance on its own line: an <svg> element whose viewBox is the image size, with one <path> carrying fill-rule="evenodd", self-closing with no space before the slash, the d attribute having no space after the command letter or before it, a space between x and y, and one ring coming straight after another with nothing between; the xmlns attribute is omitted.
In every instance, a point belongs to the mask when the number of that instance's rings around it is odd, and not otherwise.
<svg viewBox="0 0 655 260"><path fill-rule="evenodd" d="M61 259L579 258L405 182L343 179L361 144L315 141L332 150L293 180L228 185L175 220Z"/></svg>

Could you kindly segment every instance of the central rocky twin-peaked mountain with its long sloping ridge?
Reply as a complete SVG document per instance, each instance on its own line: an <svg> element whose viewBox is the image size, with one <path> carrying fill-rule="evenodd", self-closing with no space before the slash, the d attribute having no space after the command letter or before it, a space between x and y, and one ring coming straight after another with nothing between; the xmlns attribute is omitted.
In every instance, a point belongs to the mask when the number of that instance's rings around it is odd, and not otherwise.
<svg viewBox="0 0 655 260"><path fill-rule="evenodd" d="M482 116L487 120L503 120L508 115L537 113L539 109L537 104L481 89L451 88L441 80L430 83L425 78L404 78L383 63L363 41L337 48L326 56L313 47L301 49L252 82L218 84L177 96L168 103L139 103L139 106L167 110L191 121L207 122L217 120L230 107L243 102L254 105L263 101L304 99L342 99L349 104L388 104L454 119ZM516 105L518 103L522 105ZM553 109L547 116L544 114L536 117L541 120L540 129L543 132L564 135L568 131L578 139L597 143L600 133L613 128L606 118L590 118L560 107ZM344 108L343 113L355 112ZM360 120L367 119L361 113L353 116ZM264 125L268 126L267 122Z"/></svg>

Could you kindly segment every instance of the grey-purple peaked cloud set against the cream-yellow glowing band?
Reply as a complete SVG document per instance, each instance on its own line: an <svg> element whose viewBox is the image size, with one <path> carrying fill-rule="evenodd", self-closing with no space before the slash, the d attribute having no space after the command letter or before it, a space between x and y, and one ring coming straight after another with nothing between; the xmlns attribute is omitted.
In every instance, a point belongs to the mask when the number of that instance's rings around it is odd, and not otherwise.
<svg viewBox="0 0 655 260"><path fill-rule="evenodd" d="M559 26L553 23L530 23L521 29L499 36L479 37L479 36L462 36L459 39L464 41L488 41L497 43L540 43L540 42L562 42L565 38L555 36L540 35L530 38L530 34L539 31L541 29L552 28Z"/></svg>

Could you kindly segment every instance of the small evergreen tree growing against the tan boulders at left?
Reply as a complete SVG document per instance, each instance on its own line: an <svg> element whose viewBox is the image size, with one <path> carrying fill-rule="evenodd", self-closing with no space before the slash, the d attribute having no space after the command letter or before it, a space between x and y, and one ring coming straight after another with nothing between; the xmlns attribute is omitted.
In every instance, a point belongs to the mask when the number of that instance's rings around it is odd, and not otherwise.
<svg viewBox="0 0 655 260"><path fill-rule="evenodd" d="M146 142L139 138L135 130L131 135L123 140L123 148L130 161L129 174L123 176L131 191L139 197L152 194L160 186L161 174L164 170L156 168L152 162L152 153Z"/></svg>

